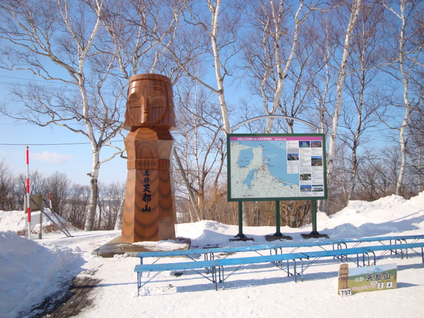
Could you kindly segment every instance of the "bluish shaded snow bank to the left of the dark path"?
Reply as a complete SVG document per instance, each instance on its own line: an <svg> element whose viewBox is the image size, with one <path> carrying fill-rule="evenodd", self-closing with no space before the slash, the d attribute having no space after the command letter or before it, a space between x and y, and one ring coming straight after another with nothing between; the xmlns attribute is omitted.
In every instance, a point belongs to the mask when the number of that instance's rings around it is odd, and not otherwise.
<svg viewBox="0 0 424 318"><path fill-rule="evenodd" d="M0 317L19 317L63 288L83 264L69 247L38 244L0 232Z"/></svg>

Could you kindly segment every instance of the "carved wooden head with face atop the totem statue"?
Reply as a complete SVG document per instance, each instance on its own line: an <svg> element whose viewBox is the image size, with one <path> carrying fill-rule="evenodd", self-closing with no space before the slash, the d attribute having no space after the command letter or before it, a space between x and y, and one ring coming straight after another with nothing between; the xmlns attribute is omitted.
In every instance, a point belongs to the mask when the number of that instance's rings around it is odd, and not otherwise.
<svg viewBox="0 0 424 318"><path fill-rule="evenodd" d="M159 74L129 78L124 129L140 126L175 127L174 102L170 79Z"/></svg>

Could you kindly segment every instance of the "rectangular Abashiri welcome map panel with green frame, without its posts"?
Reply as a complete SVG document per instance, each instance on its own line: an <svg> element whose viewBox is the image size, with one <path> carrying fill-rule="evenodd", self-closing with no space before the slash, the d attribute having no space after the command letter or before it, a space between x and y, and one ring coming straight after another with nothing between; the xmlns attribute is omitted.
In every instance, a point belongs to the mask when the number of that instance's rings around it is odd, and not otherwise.
<svg viewBox="0 0 424 318"><path fill-rule="evenodd" d="M324 134L229 134L228 200L326 199Z"/></svg>

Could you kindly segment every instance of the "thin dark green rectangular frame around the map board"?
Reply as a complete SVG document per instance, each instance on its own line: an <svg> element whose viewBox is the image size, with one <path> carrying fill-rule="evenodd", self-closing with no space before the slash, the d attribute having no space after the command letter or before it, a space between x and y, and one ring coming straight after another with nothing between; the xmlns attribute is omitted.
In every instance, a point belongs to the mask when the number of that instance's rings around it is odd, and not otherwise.
<svg viewBox="0 0 424 318"><path fill-rule="evenodd" d="M322 167L324 169L324 196L294 196L294 197L260 197L260 198L232 198L231 197L231 137L322 137ZM326 184L326 142L325 134L228 134L227 135L227 175L228 175L228 201L288 201L288 200L324 200L327 199Z"/></svg>

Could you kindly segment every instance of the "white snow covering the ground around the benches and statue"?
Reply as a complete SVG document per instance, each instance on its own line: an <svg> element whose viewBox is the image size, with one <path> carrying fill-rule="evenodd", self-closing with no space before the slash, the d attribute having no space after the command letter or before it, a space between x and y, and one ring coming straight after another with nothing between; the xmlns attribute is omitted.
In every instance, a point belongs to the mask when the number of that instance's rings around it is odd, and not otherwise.
<svg viewBox="0 0 424 318"><path fill-rule="evenodd" d="M24 225L23 216L22 211L0 211L0 317L36 317L37 305L49 295L63 294L71 278L83 272L101 281L90 292L93 303L79 317L423 317L424 264L417 254L379 261L397 264L396 289L349 297L337 295L340 263L329 259L307 269L305 281L298 283L275 266L247 266L225 281L225 290L218 285L217 291L199 275L163 272L137 297L134 266L139 259L90 254L119 231L73 231L70 238L50 233L42 240L36 235L28 240L16 234ZM264 244L264 235L275 230L244 227L254 242L229 242L237 225L214 221L177 225L177 235L190 237L192 246L198 247ZM311 230L311 225L281 228L293 241L303 241L300 234ZM388 196L374 202L351 201L334 216L319 213L318 231L331 239L424 234L424 193L411 200Z"/></svg>

